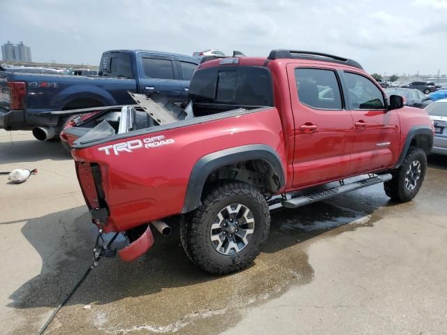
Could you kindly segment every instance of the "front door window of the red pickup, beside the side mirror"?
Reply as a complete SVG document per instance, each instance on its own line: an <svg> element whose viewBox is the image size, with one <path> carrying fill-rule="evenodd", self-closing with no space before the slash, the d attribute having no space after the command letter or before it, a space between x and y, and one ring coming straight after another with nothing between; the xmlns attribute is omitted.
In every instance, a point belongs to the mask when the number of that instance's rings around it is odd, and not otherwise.
<svg viewBox="0 0 447 335"><path fill-rule="evenodd" d="M383 110L385 108L382 91L367 77L345 72L344 78L354 110Z"/></svg>

